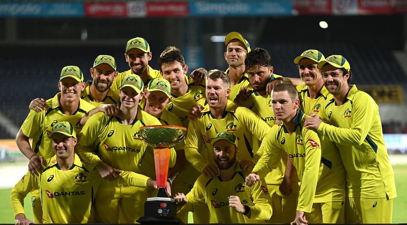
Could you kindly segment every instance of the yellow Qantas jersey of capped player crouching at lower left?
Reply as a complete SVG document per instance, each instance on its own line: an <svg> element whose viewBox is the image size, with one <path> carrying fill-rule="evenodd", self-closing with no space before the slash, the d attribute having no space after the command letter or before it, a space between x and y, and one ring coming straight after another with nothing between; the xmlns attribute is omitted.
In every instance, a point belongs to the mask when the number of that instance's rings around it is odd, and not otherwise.
<svg viewBox="0 0 407 225"><path fill-rule="evenodd" d="M40 189L43 210L42 223L93 222L92 207L95 194L103 180L97 170L90 171L75 154L72 167L61 170L56 156L46 160L40 176L26 173L14 186L10 200L14 215L24 213L24 197L34 189ZM120 182L147 187L146 176L121 172Z"/></svg>

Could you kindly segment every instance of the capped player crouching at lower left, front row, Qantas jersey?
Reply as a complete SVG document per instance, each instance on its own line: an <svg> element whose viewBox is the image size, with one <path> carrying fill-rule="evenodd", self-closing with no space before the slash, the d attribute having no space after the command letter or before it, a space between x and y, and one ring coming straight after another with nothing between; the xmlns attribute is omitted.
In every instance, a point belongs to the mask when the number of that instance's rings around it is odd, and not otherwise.
<svg viewBox="0 0 407 225"><path fill-rule="evenodd" d="M24 197L32 189L40 189L43 209L40 223L93 222L94 194L102 178L89 170L74 153L76 132L69 122L55 124L49 134L54 156L46 160L39 176L27 172L11 191L11 204L16 224L34 221L24 214ZM121 171L120 182L139 187L154 187L156 182L146 176Z"/></svg>

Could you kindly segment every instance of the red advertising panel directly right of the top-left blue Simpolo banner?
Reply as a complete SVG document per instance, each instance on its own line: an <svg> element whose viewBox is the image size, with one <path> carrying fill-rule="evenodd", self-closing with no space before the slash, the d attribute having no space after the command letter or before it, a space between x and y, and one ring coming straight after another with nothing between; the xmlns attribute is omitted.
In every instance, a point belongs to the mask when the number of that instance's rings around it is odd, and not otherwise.
<svg viewBox="0 0 407 225"><path fill-rule="evenodd" d="M86 17L127 17L126 3L84 3Z"/></svg>

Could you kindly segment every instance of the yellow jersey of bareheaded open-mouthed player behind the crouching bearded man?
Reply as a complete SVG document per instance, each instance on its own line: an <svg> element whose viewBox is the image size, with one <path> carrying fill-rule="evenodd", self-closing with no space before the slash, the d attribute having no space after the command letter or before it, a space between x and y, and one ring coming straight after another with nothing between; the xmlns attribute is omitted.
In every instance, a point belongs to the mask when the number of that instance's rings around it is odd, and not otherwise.
<svg viewBox="0 0 407 225"><path fill-rule="evenodd" d="M238 106L230 100L227 101L222 119L215 119L209 105L206 105L202 110L202 117L190 121L185 141L185 156L199 172L208 163L215 163L210 143L221 131L234 132L238 138L238 158L243 160L256 158L256 152L253 152L253 134L256 139L263 140L270 131L270 126L250 109ZM199 148L203 144L206 148Z"/></svg>

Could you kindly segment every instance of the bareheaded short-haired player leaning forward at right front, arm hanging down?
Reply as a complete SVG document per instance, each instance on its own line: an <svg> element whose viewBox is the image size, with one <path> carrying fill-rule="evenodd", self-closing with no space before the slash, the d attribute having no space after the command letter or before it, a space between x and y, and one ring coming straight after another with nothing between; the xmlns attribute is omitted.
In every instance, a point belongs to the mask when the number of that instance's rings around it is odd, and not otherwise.
<svg viewBox="0 0 407 225"><path fill-rule="evenodd" d="M273 126L260 148L265 153L246 178L251 186L260 178L275 169L284 151L295 166L301 182L294 223L306 224L311 212L321 162L321 142L315 131L303 127L307 117L299 108L297 90L290 83L274 86L272 105L276 118L282 121L280 126Z"/></svg>

